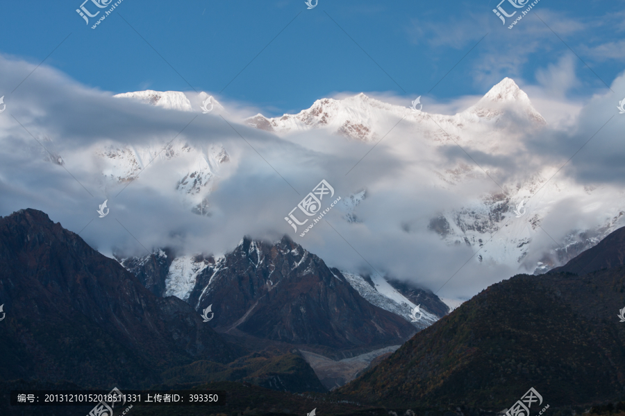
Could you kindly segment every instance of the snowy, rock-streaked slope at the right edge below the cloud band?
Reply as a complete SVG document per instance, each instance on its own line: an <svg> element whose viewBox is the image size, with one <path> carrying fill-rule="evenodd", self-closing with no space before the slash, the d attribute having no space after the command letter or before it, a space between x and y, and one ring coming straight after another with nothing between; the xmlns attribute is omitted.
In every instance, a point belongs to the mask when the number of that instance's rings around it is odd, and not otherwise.
<svg viewBox="0 0 625 416"><path fill-rule="evenodd" d="M463 207L444 209L431 218L428 227L449 245L465 244L479 250L474 261L506 264L519 272L541 273L566 263L622 226L625 214L623 193L615 195L606 188L588 191L579 184L547 182L548 179L548 175L538 175L519 189L510 189L508 194L487 194L467 201ZM530 198L533 190L543 185L540 193ZM554 243L553 249L544 252L542 258L526 259L535 239L546 237L551 240L547 234L549 231L541 227L542 220L558 209L561 202L576 200L581 205L590 206L597 200L609 200L606 198L614 198L614 203L597 218L594 226L579 228L572 225L567 236ZM524 205L519 212L525 214L517 217L515 210L519 209L521 202Z"/></svg>

